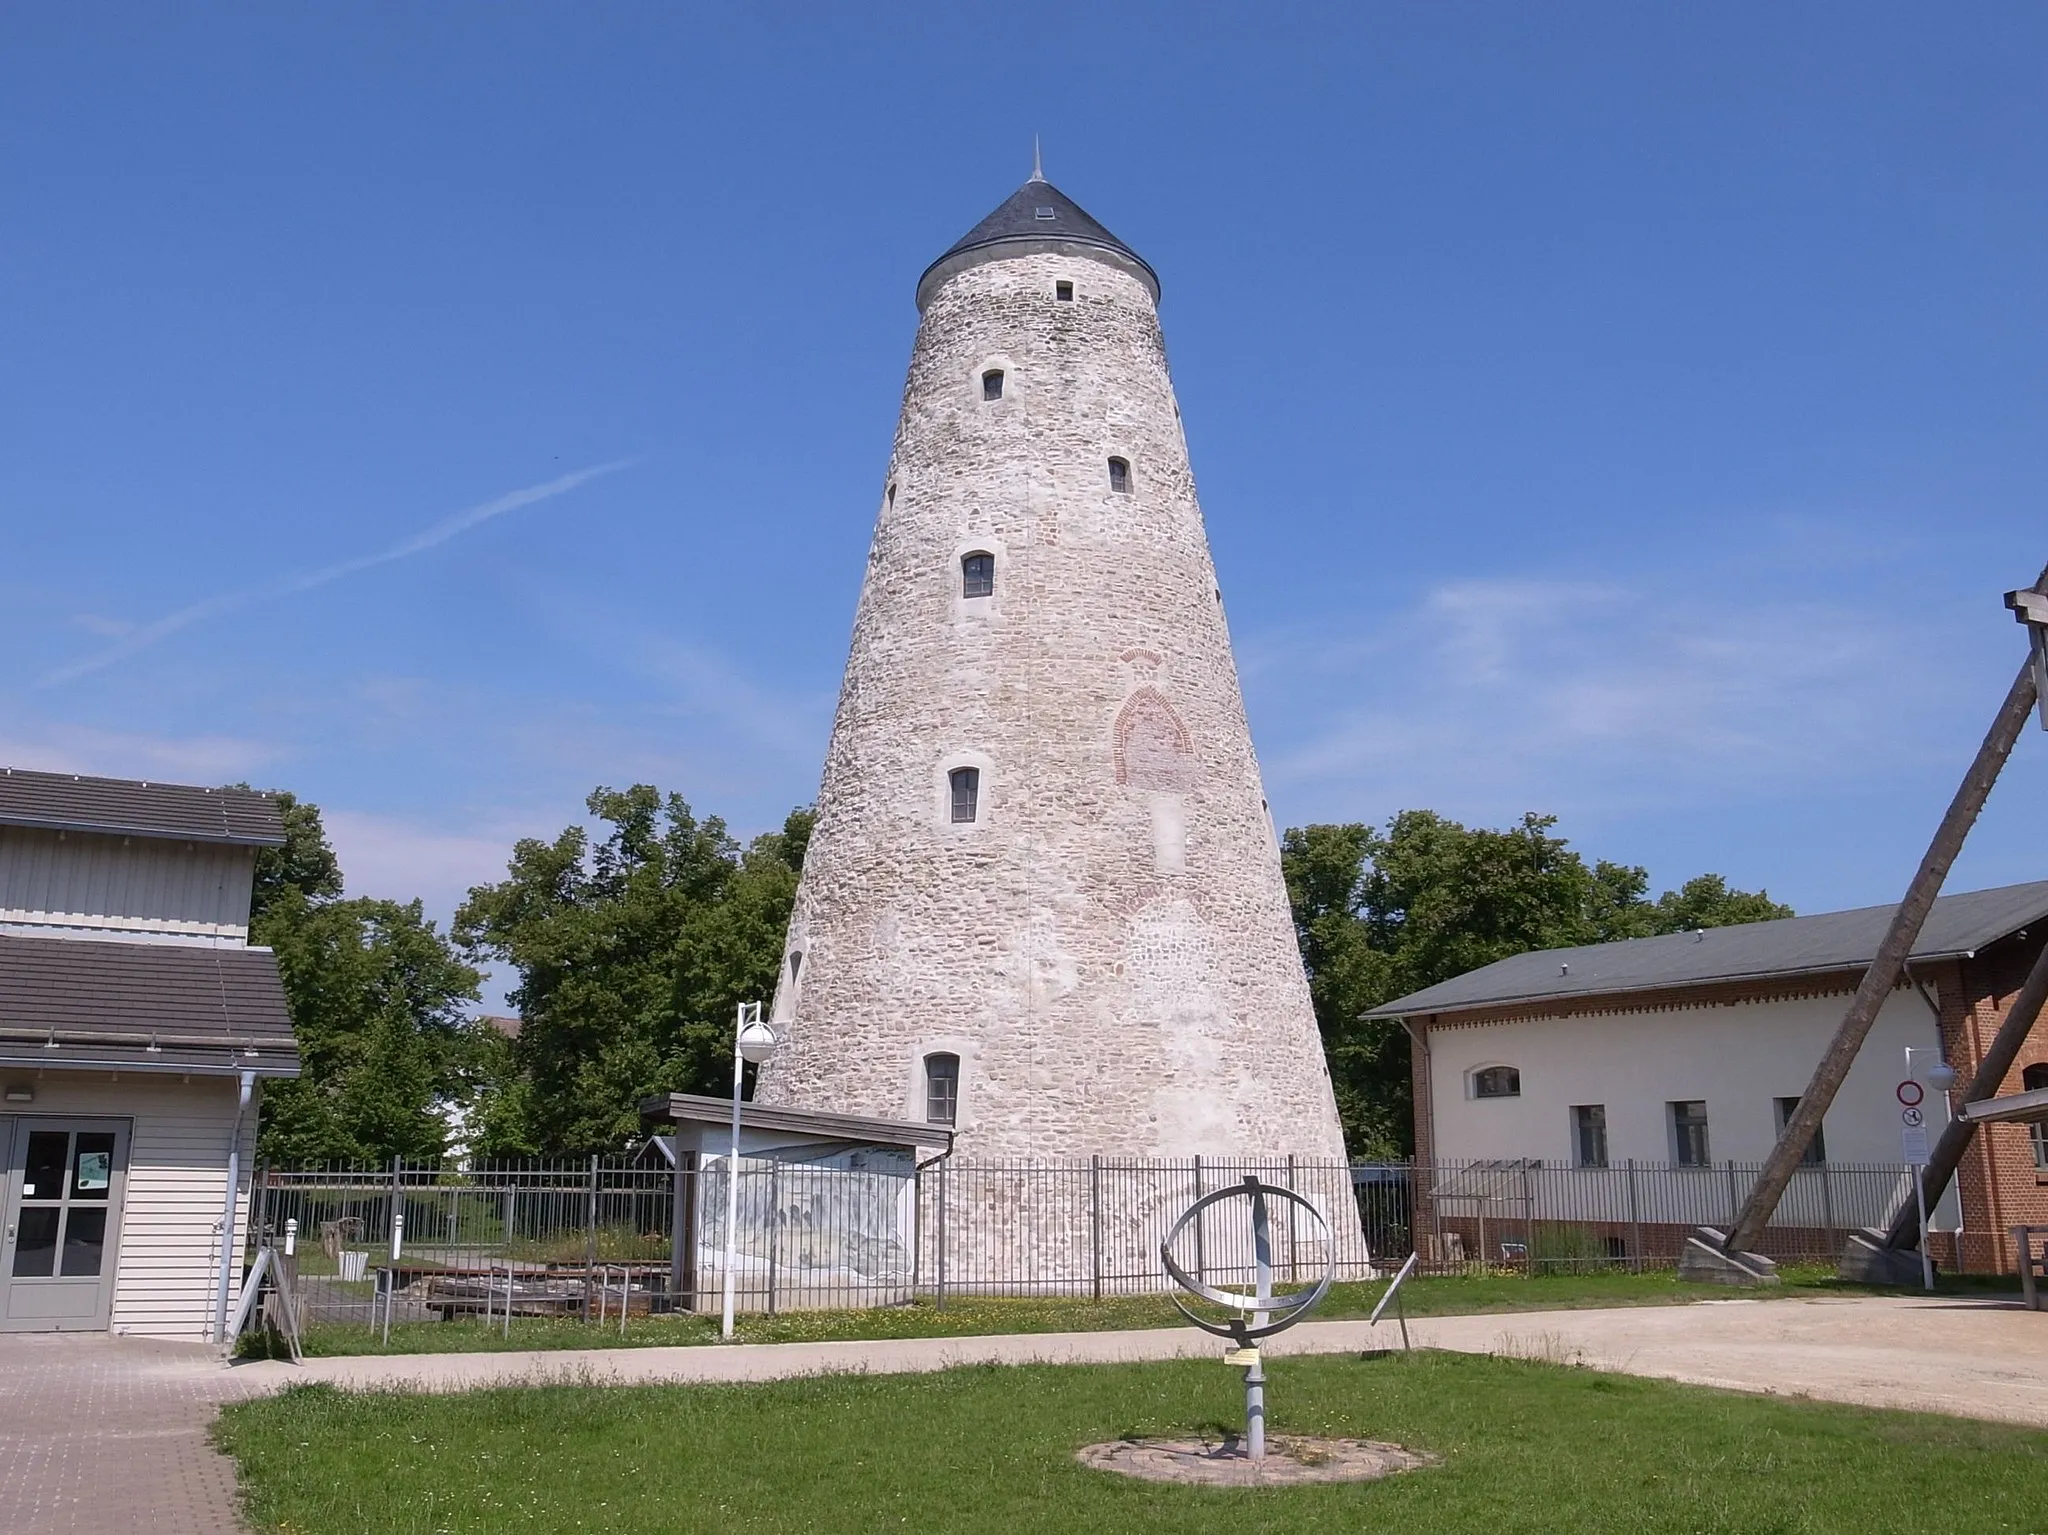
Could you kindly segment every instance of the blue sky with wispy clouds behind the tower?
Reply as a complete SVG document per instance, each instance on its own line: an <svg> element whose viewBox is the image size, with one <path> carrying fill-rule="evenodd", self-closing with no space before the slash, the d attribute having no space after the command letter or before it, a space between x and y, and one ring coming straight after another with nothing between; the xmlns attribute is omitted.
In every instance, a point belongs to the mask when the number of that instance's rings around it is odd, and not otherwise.
<svg viewBox="0 0 2048 1535"><path fill-rule="evenodd" d="M0 759L293 788L360 892L813 794L915 276L1034 133L1163 276L1282 823L1888 901L2023 653L2040 6L4 27Z"/></svg>

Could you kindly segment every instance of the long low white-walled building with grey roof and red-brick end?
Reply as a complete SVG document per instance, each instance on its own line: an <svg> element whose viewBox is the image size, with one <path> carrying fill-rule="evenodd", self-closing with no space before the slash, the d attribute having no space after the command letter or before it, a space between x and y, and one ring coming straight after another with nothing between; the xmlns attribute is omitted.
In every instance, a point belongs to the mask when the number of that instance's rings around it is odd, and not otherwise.
<svg viewBox="0 0 2048 1535"><path fill-rule="evenodd" d="M1372 1009L1368 1017L1399 1019L1413 1040L1417 1160L1583 1173L1634 1165L1655 1169L1657 1187L1683 1201L1638 1210L1638 1222L1679 1232L1726 1222L1890 917L1892 907L1866 907L1540 950ZM2044 941L2048 882L1935 901L1780 1224L1817 1224L1823 1208L1835 1230L1884 1224L1911 1197L1896 1173L1901 1081L1935 1060L1968 1081ZM1907 1050L1921 1052L1913 1072ZM2044 1038L2028 1042L2003 1091L2040 1087ZM1923 1115L1937 1132L1939 1095L1927 1093ZM1743 1171L1731 1177L1731 1167ZM1851 1177L1851 1167L1886 1173ZM1935 1212L1935 1230L1960 1230L1935 1253L1964 1267L2009 1267L2007 1228L2044 1222L2048 1128L1993 1124ZM1620 1224L1616 1240L1626 1240Z"/></svg>

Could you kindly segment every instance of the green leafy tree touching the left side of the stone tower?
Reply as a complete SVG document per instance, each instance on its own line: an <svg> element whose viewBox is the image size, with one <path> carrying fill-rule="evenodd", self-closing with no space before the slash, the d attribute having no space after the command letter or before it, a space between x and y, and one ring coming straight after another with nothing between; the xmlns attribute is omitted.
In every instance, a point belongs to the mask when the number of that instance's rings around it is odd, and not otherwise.
<svg viewBox="0 0 2048 1535"><path fill-rule="evenodd" d="M727 1091L733 1005L766 999L780 970L809 808L741 849L649 784L586 804L608 835L520 841L455 919L471 956L518 972L520 1034L475 1120L483 1150L616 1150L639 1134L639 1099Z"/></svg>

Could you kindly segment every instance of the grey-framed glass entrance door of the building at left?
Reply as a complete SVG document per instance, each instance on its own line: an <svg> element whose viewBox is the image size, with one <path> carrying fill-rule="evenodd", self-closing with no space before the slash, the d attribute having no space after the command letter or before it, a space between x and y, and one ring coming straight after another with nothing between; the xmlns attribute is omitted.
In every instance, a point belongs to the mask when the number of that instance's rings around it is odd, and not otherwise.
<svg viewBox="0 0 2048 1535"><path fill-rule="evenodd" d="M106 1326L125 1181L125 1122L14 1122L0 1238L0 1332Z"/></svg>

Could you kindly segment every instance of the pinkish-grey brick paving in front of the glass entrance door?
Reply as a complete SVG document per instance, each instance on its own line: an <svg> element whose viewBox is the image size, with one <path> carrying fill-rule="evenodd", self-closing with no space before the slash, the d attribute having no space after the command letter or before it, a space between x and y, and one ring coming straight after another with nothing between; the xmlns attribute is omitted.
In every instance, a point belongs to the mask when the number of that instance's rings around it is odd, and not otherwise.
<svg viewBox="0 0 2048 1535"><path fill-rule="evenodd" d="M207 1345L0 1334L6 1535L227 1535L236 1467L207 1441L221 1402L262 1390Z"/></svg>

